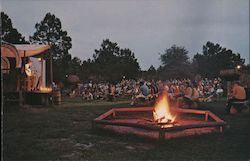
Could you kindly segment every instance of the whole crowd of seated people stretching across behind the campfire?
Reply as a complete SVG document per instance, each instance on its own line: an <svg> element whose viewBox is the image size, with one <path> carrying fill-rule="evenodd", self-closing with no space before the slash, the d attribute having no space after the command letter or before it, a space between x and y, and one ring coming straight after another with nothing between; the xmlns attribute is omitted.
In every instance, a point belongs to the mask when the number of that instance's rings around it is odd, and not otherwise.
<svg viewBox="0 0 250 161"><path fill-rule="evenodd" d="M212 99L223 93L221 80L215 78L209 80L201 79L198 82L190 79L172 79L166 81L154 80L122 80L116 84L112 83L83 83L74 87L70 96L79 96L83 100L110 100L120 96L131 97L131 105L137 101L155 100L163 91L167 91L169 99L177 102L178 106L183 103L191 106L199 101L212 101Z"/></svg>

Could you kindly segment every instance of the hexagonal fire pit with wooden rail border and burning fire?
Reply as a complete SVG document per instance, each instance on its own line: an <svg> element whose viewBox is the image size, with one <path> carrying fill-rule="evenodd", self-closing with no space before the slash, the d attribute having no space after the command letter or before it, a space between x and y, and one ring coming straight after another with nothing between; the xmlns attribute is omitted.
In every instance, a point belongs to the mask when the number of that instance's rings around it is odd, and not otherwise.
<svg viewBox="0 0 250 161"><path fill-rule="evenodd" d="M169 108L166 98L155 107L113 108L93 120L93 129L162 140L223 131L226 123L212 112Z"/></svg>

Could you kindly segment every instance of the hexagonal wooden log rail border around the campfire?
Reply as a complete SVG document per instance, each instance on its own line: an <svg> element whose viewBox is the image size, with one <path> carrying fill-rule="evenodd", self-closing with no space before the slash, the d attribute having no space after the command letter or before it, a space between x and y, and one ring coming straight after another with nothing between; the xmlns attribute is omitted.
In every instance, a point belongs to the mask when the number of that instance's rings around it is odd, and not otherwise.
<svg viewBox="0 0 250 161"><path fill-rule="evenodd" d="M210 111L202 111L202 110L194 110L194 109L173 109L174 112L177 113L190 113L190 114L199 114L204 115L205 123L202 124L192 124L192 125L181 125L181 126L173 126L168 128L161 128L160 126L155 125L145 125L145 124L137 124L137 123L129 123L129 122L114 122L112 120L105 120L105 118L112 116L115 117L118 112L143 112L143 111L153 111L153 107L136 107L136 108L113 108L108 112L100 115L92 122L92 128L95 128L96 125L114 125L114 126L126 126L126 127L134 127L141 128L146 130L153 130L159 132L159 139L164 138L165 132L173 132L173 131L181 131L186 129L193 128L207 128L207 127L216 127L219 132L223 132L223 129L226 125L226 122L221 120L215 114ZM215 122L208 122L208 119L212 118Z"/></svg>

